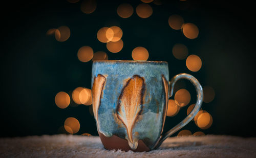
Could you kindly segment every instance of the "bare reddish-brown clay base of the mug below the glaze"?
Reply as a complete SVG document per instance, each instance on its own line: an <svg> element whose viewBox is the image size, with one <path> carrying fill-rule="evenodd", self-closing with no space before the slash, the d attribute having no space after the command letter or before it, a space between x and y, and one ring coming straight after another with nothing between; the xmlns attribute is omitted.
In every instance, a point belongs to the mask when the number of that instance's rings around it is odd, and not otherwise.
<svg viewBox="0 0 256 158"><path fill-rule="evenodd" d="M105 149L107 150L122 150L122 151L135 151L135 152L143 152L143 151L150 151L150 148L148 148L142 140L138 141L138 147L137 149L133 150L131 147L128 145L128 141L122 138L119 138L115 135L112 137L105 137L104 134L99 132L99 137L100 140L104 146Z"/></svg>

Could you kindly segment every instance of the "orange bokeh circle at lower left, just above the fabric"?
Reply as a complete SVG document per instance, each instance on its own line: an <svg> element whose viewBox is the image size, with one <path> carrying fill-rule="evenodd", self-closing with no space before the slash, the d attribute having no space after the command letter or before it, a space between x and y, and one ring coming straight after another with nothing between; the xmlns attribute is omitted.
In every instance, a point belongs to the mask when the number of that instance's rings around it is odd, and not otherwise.
<svg viewBox="0 0 256 158"><path fill-rule="evenodd" d="M80 123L76 118L70 117L65 120L64 127L67 132L75 134L80 129Z"/></svg>

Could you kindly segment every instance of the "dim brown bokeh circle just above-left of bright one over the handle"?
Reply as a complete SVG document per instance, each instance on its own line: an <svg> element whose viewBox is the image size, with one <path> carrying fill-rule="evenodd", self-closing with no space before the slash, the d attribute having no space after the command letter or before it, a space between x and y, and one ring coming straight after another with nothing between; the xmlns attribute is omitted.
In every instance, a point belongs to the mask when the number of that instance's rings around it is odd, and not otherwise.
<svg viewBox="0 0 256 158"><path fill-rule="evenodd" d="M188 50L184 44L177 43L173 47L173 55L175 58L182 60L187 57Z"/></svg>

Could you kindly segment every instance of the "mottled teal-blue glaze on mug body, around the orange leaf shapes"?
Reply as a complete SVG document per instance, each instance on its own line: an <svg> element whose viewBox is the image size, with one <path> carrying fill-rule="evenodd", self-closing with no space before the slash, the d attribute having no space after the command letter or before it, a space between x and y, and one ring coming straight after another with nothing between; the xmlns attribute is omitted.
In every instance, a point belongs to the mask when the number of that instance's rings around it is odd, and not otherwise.
<svg viewBox="0 0 256 158"><path fill-rule="evenodd" d="M166 106L162 75L169 81L167 62L154 61L94 61L92 85L98 74L106 76L98 108L97 129L106 137L114 135L127 138L125 127L117 123L116 108L118 97L127 79L134 75L144 78L145 92L143 110L133 128L133 136L153 149L158 142ZM138 132L139 134L135 133Z"/></svg>

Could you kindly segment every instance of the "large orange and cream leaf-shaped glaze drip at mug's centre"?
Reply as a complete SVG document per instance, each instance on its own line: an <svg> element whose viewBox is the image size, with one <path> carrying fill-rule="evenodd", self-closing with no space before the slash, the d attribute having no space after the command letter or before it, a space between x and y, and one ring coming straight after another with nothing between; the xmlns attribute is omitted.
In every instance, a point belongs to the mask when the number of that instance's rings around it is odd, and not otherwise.
<svg viewBox="0 0 256 158"><path fill-rule="evenodd" d="M144 78L134 75L126 82L118 98L117 118L126 128L126 139L132 149L138 147L138 139L133 139L133 127L143 109L144 92Z"/></svg>

